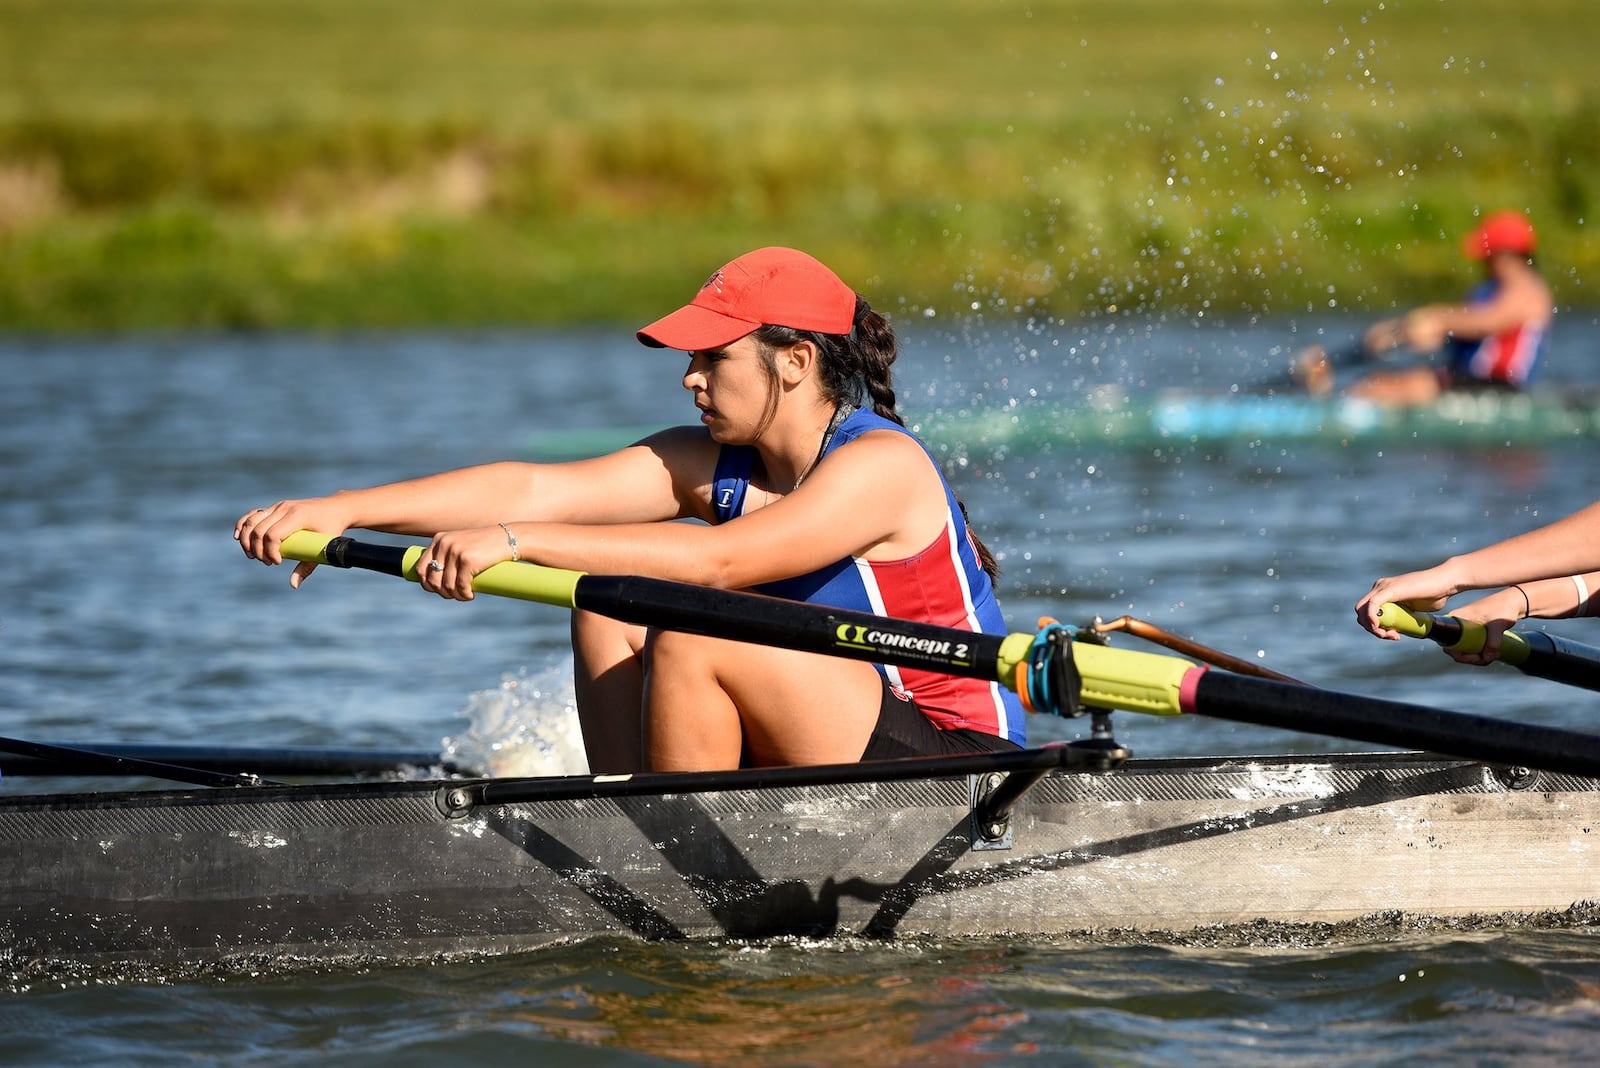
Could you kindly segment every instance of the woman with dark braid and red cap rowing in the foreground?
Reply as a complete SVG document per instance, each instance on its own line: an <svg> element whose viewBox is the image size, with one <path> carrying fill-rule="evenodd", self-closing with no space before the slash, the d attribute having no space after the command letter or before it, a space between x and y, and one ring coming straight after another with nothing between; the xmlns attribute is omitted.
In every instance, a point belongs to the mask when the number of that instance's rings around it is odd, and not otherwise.
<svg viewBox="0 0 1600 1068"><path fill-rule="evenodd" d="M805 253L763 248L638 331L688 353L699 427L570 464L501 462L307 500L234 528L283 561L299 529L432 537L422 587L472 600L504 560L640 574L1005 633L994 560L894 411L894 333ZM672 523L696 518L702 524ZM312 572L301 563L291 587ZM597 772L1016 748L1016 694L978 679L573 616Z"/></svg>

